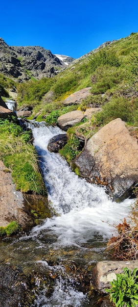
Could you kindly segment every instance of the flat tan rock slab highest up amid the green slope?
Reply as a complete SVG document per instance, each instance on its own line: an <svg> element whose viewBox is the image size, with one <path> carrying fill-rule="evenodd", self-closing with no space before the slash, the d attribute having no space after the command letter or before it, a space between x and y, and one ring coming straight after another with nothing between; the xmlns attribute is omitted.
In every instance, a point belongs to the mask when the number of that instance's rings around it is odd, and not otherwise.
<svg viewBox="0 0 138 307"><path fill-rule="evenodd" d="M64 105L71 105L74 103L81 103L83 99L86 99L89 95L91 95L90 90L92 87L86 87L83 88L80 91L77 91L71 95L69 95L68 98L66 98L63 102Z"/></svg>

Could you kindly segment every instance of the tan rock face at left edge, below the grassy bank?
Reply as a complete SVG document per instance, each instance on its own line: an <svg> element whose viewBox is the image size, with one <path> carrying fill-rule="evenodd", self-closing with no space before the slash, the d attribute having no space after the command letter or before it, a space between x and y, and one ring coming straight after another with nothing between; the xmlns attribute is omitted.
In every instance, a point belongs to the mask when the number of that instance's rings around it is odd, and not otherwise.
<svg viewBox="0 0 138 307"><path fill-rule="evenodd" d="M16 191L9 170L0 161L0 226L17 221L22 227L32 226L33 222L24 211L23 195Z"/></svg>

